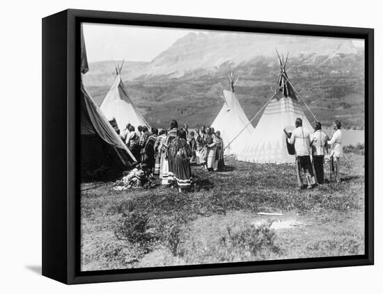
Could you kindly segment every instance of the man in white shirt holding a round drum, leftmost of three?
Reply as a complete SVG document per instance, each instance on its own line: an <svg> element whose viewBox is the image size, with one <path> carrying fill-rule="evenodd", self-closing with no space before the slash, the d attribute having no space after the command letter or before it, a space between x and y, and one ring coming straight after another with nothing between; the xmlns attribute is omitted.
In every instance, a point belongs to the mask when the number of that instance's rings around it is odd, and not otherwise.
<svg viewBox="0 0 383 294"><path fill-rule="evenodd" d="M288 142L295 147L298 163L306 174L307 188L312 188L315 185L315 177L310 159L310 132L302 127L302 119L300 117L295 120L295 127L296 129L292 131Z"/></svg>

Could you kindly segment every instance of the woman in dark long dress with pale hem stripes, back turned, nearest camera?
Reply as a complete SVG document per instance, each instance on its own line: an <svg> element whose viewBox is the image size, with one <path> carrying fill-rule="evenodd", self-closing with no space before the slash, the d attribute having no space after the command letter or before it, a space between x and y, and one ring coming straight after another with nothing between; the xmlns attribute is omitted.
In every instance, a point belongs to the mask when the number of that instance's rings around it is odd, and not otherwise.
<svg viewBox="0 0 383 294"><path fill-rule="evenodd" d="M169 152L173 158L173 174L177 181L178 192L189 190L192 185L192 169L190 168L190 158L192 149L187 143L186 131L181 129L178 138L173 140Z"/></svg>

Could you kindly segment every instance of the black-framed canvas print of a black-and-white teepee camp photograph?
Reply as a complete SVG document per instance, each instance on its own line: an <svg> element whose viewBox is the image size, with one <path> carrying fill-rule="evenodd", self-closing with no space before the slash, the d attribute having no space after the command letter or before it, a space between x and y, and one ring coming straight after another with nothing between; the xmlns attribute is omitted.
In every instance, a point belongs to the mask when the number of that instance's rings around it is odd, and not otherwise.
<svg viewBox="0 0 383 294"><path fill-rule="evenodd" d="M373 29L42 19L42 275L373 264Z"/></svg>

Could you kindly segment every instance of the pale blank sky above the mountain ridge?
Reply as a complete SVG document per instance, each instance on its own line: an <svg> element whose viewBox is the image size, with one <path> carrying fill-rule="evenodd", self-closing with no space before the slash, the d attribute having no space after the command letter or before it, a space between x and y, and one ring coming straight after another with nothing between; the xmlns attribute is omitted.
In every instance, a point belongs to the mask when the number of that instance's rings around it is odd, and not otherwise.
<svg viewBox="0 0 383 294"><path fill-rule="evenodd" d="M155 28L115 24L83 24L89 62L102 60L151 61L191 31L184 28ZM206 32L206 31L204 31ZM352 40L364 47L363 40Z"/></svg>

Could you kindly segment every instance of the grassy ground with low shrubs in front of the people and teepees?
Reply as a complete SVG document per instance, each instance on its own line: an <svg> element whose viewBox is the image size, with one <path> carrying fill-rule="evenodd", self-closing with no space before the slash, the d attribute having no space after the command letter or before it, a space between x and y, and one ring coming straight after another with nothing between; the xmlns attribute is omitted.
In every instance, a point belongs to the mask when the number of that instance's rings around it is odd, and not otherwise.
<svg viewBox="0 0 383 294"><path fill-rule="evenodd" d="M82 270L364 254L364 155L348 151L342 182L313 190L296 188L292 165L233 158L193 168L191 193L82 183Z"/></svg>

